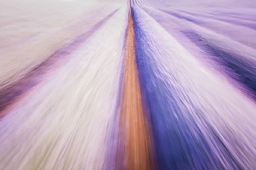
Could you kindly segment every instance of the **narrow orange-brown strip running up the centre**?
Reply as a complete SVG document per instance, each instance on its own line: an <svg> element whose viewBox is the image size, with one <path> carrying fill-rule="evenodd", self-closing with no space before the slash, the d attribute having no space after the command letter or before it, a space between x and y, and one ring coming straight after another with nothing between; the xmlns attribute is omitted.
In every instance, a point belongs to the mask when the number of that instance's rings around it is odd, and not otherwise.
<svg viewBox="0 0 256 170"><path fill-rule="evenodd" d="M131 12L126 38L124 92L121 101L121 130L125 132L125 169L150 169L149 129L141 103L138 72L135 64L134 23Z"/></svg>

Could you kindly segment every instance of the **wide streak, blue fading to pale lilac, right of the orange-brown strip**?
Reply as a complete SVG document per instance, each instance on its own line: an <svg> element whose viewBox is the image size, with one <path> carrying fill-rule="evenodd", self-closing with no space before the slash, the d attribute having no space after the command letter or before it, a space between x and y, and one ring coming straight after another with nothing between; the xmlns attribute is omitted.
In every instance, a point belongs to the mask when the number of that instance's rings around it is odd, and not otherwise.
<svg viewBox="0 0 256 170"><path fill-rule="evenodd" d="M142 9L132 11L159 169L254 169L255 105Z"/></svg>

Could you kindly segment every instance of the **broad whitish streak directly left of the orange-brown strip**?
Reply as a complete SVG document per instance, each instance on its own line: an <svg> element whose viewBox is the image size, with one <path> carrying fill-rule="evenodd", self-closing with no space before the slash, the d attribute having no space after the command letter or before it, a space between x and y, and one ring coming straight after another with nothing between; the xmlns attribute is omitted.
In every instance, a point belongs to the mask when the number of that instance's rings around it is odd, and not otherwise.
<svg viewBox="0 0 256 170"><path fill-rule="evenodd" d="M0 123L0 169L102 169L126 13L121 7L8 111Z"/></svg>

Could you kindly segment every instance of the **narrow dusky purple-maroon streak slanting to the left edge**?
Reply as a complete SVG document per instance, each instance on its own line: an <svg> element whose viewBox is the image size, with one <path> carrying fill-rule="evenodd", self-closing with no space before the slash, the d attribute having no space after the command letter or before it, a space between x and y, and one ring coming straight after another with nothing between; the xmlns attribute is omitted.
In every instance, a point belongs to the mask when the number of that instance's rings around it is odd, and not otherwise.
<svg viewBox="0 0 256 170"><path fill-rule="evenodd" d="M54 52L53 55L50 55L48 59L41 62L38 66L28 72L22 79L17 82L13 82L1 89L0 91L0 118L4 116L4 109L6 109L9 105L11 105L15 100L22 96L26 91L34 88L49 71L53 71L54 67L57 67L58 62L63 62L63 59L67 57L73 50L79 47L79 44L83 41L87 40L89 36L92 35L94 31L97 30L104 22L108 20L116 11L109 14L102 21L99 21L96 25L92 27L91 31L85 32L79 37L75 38L75 40L61 48L60 50ZM50 68L49 68L50 67Z"/></svg>

